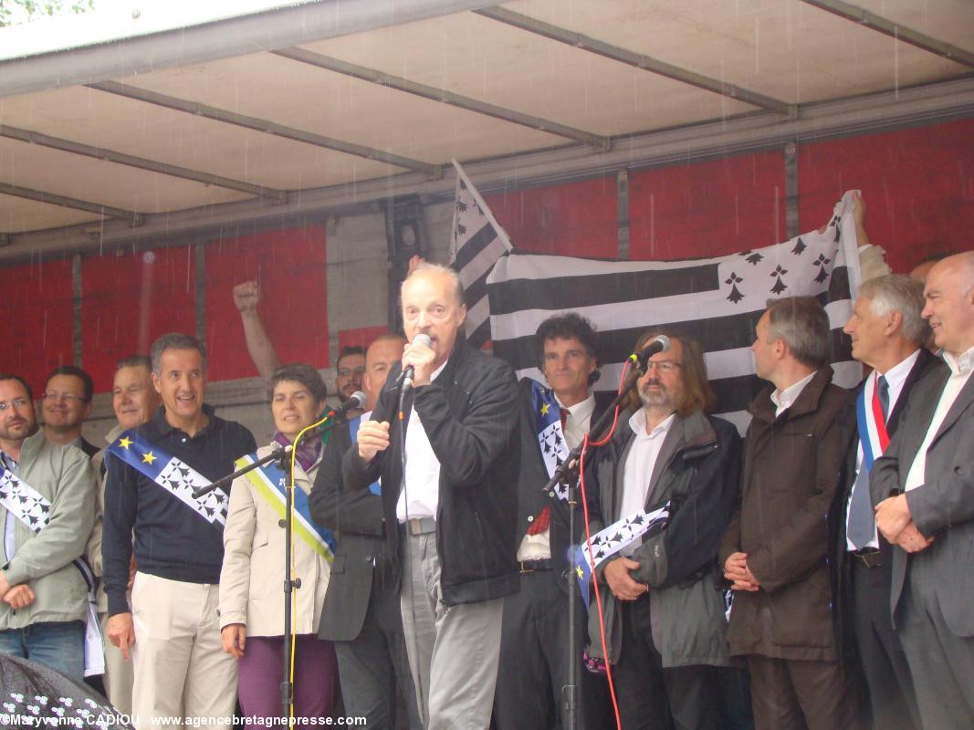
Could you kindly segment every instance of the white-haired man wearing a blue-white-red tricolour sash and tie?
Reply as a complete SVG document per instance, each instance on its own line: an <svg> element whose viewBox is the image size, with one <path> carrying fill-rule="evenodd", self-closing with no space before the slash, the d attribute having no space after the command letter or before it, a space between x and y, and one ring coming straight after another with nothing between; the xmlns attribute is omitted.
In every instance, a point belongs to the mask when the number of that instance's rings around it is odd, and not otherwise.
<svg viewBox="0 0 974 730"><path fill-rule="evenodd" d="M840 615L843 634L851 631L855 635L869 685L873 726L903 730L920 727L917 698L889 618L892 547L876 529L869 471L888 443L887 437L896 432L914 384L929 371L943 367L923 347L929 327L920 316L922 309L922 283L902 274L879 276L860 287L852 316L843 328L852 338L852 356L873 372L856 392L858 429L851 440L847 478L839 497L836 565L840 567ZM843 639L852 643L849 637Z"/></svg>

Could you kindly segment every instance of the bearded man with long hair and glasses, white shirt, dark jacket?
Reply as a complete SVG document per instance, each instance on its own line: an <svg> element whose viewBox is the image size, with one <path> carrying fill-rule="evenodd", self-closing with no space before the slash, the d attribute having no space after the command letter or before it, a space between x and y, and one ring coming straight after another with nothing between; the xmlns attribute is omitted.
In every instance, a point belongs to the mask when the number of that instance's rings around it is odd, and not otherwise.
<svg viewBox="0 0 974 730"><path fill-rule="evenodd" d="M659 334L645 333L635 351ZM642 408L586 458L593 538L645 525L637 516L658 506L669 509L661 531L632 533L596 564L608 657L594 602L589 652L613 665L622 727L663 730L672 720L680 730L716 730L718 668L732 665L715 559L737 498L740 437L707 415L714 396L702 347L666 334L670 349L653 355L637 382Z"/></svg>

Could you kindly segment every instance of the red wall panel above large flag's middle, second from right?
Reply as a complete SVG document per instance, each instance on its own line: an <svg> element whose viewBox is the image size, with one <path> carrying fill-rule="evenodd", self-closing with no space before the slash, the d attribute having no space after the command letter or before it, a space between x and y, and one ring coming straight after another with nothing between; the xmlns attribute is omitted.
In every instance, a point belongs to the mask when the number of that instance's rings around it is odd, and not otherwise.
<svg viewBox="0 0 974 730"><path fill-rule="evenodd" d="M635 172L631 258L720 256L784 240L784 195L778 151Z"/></svg>

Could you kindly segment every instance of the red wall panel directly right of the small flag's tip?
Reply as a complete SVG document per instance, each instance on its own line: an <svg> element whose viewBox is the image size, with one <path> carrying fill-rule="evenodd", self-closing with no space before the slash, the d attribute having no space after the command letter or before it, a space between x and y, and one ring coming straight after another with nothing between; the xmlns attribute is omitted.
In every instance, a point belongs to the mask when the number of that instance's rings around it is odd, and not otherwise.
<svg viewBox="0 0 974 730"><path fill-rule="evenodd" d="M615 177L496 193L484 201L518 248L562 256L616 257Z"/></svg>

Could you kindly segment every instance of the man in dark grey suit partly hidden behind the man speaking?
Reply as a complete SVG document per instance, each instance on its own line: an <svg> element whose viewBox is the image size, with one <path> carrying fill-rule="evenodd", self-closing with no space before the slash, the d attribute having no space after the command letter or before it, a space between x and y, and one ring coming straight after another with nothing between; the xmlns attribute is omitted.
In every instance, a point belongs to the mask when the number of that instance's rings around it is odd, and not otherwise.
<svg viewBox="0 0 974 730"><path fill-rule="evenodd" d="M390 369L402 357L405 343L399 335L385 335L366 351L369 411ZM367 419L368 414L359 418ZM358 422L353 420L352 428ZM369 490L346 490L342 482L342 457L352 443L350 428L332 431L311 493L312 517L337 533L318 639L335 643L349 715L365 717L370 728L392 730L398 684L409 726L419 730L422 723L406 657L399 596L385 561L382 497Z"/></svg>

